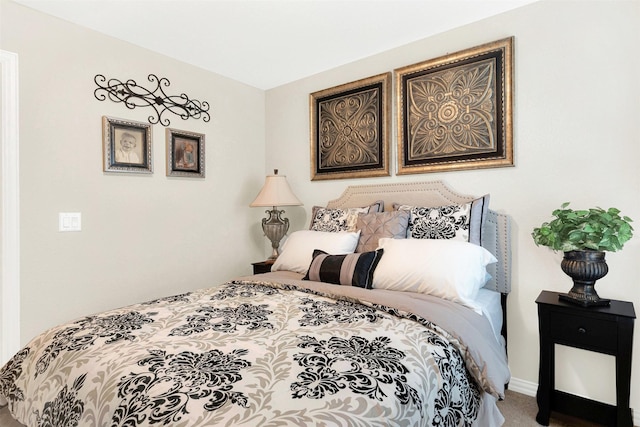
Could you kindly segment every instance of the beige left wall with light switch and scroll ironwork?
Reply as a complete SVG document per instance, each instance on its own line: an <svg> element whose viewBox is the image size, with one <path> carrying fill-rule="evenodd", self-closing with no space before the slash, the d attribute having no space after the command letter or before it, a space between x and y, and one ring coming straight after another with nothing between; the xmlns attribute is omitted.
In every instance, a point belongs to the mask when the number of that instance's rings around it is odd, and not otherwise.
<svg viewBox="0 0 640 427"><path fill-rule="evenodd" d="M80 315L222 283L265 256L249 203L264 182L263 91L1 3L1 48L19 56L21 342ZM170 117L205 134L206 178L165 175L154 125L153 175L102 171L103 115L145 122L148 109L94 98L96 74L167 77L168 93L210 103L211 121ZM58 231L81 212L82 231Z"/></svg>

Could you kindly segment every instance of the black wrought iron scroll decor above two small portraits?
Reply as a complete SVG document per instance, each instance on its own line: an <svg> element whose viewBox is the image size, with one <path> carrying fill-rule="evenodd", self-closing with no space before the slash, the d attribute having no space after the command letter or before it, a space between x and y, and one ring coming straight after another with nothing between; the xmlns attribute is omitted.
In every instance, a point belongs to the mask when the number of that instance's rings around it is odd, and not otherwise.
<svg viewBox="0 0 640 427"><path fill-rule="evenodd" d="M160 123L163 126L169 126L171 121L163 117L167 111L179 116L182 120L188 118L202 118L205 122L211 120L207 112L209 104L206 101L189 99L184 93L167 95L163 88L169 87L171 83L166 77L158 78L155 74L149 74L148 78L151 83L156 84L153 90L139 86L132 79L125 82L118 79L107 80L102 74L97 74L93 80L98 88L93 95L98 101L108 98L113 102L122 102L130 110L136 107L152 107L156 114L148 117L151 124Z"/></svg>

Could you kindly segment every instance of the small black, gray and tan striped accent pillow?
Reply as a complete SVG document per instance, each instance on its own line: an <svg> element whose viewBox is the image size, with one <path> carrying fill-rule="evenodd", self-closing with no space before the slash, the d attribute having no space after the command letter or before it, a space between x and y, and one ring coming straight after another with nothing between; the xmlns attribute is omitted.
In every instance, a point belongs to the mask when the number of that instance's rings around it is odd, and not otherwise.
<svg viewBox="0 0 640 427"><path fill-rule="evenodd" d="M316 249L302 280L357 286L371 289L373 272L382 258L382 249L346 255L329 255Z"/></svg>

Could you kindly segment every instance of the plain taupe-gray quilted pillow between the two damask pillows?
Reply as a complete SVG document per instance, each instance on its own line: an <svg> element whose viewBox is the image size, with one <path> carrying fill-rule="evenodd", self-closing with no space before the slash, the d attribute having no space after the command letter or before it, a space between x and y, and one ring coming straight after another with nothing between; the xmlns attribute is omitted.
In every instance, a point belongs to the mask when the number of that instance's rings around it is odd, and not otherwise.
<svg viewBox="0 0 640 427"><path fill-rule="evenodd" d="M356 252L369 252L378 248L378 239L390 237L404 239L409 225L409 211L391 211L358 215L356 230L360 239Z"/></svg>

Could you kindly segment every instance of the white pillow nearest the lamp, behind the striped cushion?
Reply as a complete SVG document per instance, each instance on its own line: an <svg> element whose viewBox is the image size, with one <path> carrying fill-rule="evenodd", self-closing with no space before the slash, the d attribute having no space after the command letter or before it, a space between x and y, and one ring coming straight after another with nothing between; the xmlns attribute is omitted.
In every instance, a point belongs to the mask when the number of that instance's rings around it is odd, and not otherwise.
<svg viewBox="0 0 640 427"><path fill-rule="evenodd" d="M360 231L337 233L300 230L289 235L271 271L288 270L305 274L313 259L313 251L320 249L331 255L352 254L358 245Z"/></svg>

